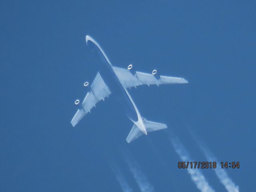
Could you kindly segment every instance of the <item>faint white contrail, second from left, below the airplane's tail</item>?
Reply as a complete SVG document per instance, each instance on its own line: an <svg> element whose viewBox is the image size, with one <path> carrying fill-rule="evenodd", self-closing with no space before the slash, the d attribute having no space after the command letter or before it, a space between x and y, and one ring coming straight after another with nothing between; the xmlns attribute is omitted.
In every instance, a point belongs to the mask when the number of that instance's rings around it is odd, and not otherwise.
<svg viewBox="0 0 256 192"><path fill-rule="evenodd" d="M130 172L132 173L136 183L138 184L141 192L154 192L154 186L150 184L148 181L148 178L146 175L142 172L140 167L138 166L138 163L133 160L129 160L126 156L125 158L126 163L128 164L128 167L130 169Z"/></svg>

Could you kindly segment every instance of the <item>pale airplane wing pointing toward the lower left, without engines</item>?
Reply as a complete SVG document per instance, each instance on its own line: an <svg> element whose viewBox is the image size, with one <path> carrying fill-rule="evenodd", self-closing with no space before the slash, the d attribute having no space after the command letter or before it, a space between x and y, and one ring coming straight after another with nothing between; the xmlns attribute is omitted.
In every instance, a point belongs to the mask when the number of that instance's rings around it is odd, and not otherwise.
<svg viewBox="0 0 256 192"><path fill-rule="evenodd" d="M108 97L111 92L102 79L100 73L98 72L96 77L94 78L91 84L91 91L86 94L82 104L80 105L80 109L76 111L76 114L71 120L72 126L76 126L76 124L88 113L93 107L96 107L96 103Z"/></svg>

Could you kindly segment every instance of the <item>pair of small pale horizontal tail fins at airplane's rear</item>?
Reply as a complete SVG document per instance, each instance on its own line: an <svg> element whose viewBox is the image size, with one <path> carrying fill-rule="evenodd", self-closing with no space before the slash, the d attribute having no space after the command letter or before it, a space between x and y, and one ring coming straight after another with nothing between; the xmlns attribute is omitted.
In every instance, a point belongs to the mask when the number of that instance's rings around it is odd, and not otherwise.
<svg viewBox="0 0 256 192"><path fill-rule="evenodd" d="M143 118L143 123L145 125L147 132L157 131L161 129L166 129L166 124L157 123L153 121L148 121L145 118ZM142 136L144 133L136 126L135 124L132 126L132 130L128 134L126 141L128 143L132 142L133 140L137 139L138 137Z"/></svg>

